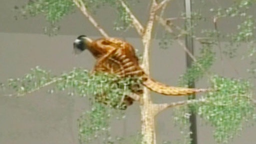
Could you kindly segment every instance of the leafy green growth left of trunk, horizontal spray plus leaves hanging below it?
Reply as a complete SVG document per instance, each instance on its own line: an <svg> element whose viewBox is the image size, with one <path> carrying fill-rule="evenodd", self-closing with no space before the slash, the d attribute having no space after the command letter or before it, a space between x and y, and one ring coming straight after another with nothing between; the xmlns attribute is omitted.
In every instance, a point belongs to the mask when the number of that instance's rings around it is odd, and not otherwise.
<svg viewBox="0 0 256 144"><path fill-rule="evenodd" d="M81 68L74 68L70 72L54 76L50 71L37 66L31 68L30 72L21 78L9 79L8 83L1 84L1 87L13 89L17 96L21 96L49 84L55 84L50 92L70 90L69 93L87 96L92 108L82 114L78 122L80 141L88 143L99 135L109 137L109 118L121 114L119 109L125 109L127 106L122 102L123 96L131 92L131 85L139 83L138 78L120 78L107 73L90 74ZM105 139L105 141L109 140L111 139Z"/></svg>

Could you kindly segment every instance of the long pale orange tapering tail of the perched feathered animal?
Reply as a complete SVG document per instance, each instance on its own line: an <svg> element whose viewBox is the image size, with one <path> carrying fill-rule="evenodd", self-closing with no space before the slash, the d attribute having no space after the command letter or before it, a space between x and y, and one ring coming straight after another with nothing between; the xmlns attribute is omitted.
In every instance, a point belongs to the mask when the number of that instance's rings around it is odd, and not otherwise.
<svg viewBox="0 0 256 144"><path fill-rule="evenodd" d="M163 83L157 82L147 76L146 80L144 80L143 85L149 88L150 90L161 93L164 95L189 95L196 92L209 91L210 89L203 88L184 88L184 87L174 87L168 86Z"/></svg>

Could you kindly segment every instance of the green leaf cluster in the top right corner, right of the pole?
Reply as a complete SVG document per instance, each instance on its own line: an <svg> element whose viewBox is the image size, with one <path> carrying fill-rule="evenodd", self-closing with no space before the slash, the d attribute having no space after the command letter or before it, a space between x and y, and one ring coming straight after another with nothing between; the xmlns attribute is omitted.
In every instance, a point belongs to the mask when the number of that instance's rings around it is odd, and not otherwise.
<svg viewBox="0 0 256 144"><path fill-rule="evenodd" d="M241 21L237 25L236 32L225 33L224 36L228 39L229 44L226 45L225 54L233 57L233 53L245 42L248 44L249 55L252 44L255 43L255 22L252 15L248 14L249 9L255 3L255 0L235 0L232 5L225 8L211 8L210 11L214 13L214 17L238 17Z"/></svg>

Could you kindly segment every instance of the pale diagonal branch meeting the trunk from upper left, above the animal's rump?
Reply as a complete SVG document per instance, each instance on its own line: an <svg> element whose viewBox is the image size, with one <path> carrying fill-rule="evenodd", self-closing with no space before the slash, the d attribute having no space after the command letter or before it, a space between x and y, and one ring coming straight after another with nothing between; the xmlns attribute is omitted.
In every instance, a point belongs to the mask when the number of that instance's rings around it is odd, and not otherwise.
<svg viewBox="0 0 256 144"><path fill-rule="evenodd" d="M144 32L144 27L140 24L140 22L134 16L134 14L130 11L129 7L125 4L125 2L123 0L119 0L119 2L121 3L121 5L125 9L125 11L129 14L132 24L135 27L135 29L137 30L138 34L140 36L142 36L143 32Z"/></svg>

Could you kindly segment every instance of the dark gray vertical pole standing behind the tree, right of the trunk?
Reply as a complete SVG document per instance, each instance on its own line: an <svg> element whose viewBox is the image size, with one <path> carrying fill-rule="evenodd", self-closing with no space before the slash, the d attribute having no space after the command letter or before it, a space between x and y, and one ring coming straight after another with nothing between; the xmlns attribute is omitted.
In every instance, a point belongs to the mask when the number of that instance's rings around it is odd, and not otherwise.
<svg viewBox="0 0 256 144"><path fill-rule="evenodd" d="M188 49L193 54L193 38L192 34L193 31L191 30L191 0L184 0L185 4L185 15L186 15L186 20L185 20L185 30L187 30L189 33L185 36L185 45ZM186 67L189 68L192 64L192 59L189 57L189 55L186 53ZM189 82L187 83L188 87L193 88L194 87L194 82ZM195 95L190 95L188 99L194 99ZM197 131L196 131L196 115L194 112L190 113L189 117L189 122L190 122L190 127L189 130L191 131L190 138L191 138L191 143L196 144L197 143Z"/></svg>

